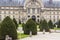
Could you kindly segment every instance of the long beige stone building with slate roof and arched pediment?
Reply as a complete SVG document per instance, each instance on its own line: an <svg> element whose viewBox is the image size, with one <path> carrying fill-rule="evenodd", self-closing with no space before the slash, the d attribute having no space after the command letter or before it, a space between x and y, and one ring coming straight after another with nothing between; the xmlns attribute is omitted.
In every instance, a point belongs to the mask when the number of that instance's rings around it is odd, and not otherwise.
<svg viewBox="0 0 60 40"><path fill-rule="evenodd" d="M0 0L0 21L6 16L15 18L19 23L25 23L32 18L36 22L42 19L52 20L56 23L60 20L60 2L54 0Z"/></svg>

